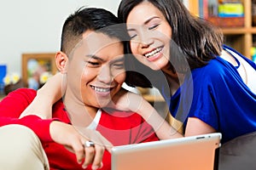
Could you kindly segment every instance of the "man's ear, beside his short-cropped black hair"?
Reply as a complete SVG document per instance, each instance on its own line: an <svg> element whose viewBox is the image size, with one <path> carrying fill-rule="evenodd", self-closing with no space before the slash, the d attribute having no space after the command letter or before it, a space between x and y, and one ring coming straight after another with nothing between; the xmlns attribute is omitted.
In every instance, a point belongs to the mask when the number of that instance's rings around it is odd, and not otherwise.
<svg viewBox="0 0 256 170"><path fill-rule="evenodd" d="M55 54L55 63L58 68L58 70L63 74L67 72L67 63L68 58L67 55L61 51L58 51Z"/></svg>

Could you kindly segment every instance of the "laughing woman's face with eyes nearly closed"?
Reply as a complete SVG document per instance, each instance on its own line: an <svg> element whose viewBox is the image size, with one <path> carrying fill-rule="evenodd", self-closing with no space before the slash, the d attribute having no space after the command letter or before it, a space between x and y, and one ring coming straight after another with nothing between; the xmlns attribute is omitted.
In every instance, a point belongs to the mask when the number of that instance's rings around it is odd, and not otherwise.
<svg viewBox="0 0 256 170"><path fill-rule="evenodd" d="M126 24L132 54L153 70L165 69L170 59L172 28L160 10L152 3L140 3L132 8Z"/></svg>

